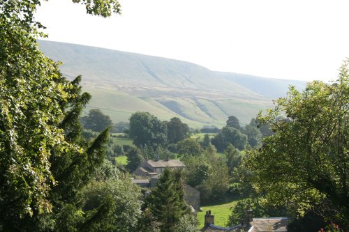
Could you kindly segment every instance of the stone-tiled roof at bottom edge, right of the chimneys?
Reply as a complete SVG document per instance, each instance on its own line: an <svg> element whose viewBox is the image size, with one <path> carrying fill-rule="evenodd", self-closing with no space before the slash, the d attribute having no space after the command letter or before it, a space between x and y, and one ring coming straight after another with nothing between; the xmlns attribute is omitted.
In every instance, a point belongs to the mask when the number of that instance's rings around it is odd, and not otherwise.
<svg viewBox="0 0 349 232"><path fill-rule="evenodd" d="M290 219L287 217L253 218L248 232L284 232L287 231L289 222Z"/></svg>

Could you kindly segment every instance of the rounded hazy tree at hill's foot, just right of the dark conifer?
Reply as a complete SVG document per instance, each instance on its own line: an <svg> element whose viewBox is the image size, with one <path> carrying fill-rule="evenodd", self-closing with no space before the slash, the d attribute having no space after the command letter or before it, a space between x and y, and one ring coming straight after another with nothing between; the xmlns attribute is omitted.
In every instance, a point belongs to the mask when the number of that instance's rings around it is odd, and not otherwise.
<svg viewBox="0 0 349 232"><path fill-rule="evenodd" d="M101 109L90 109L87 116L81 118L82 125L86 129L93 130L95 132L101 132L106 127L112 125L110 116L103 114Z"/></svg>

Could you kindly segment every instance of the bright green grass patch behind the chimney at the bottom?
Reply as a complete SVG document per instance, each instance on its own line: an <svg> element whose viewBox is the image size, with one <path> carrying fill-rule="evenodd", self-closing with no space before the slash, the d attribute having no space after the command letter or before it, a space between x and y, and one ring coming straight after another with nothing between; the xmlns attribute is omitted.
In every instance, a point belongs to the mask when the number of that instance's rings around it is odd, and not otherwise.
<svg viewBox="0 0 349 232"><path fill-rule="evenodd" d="M211 210L211 214L214 215L214 224L216 226L225 226L228 222L228 217L231 214L230 208L235 206L239 200L232 200L228 203L221 203L211 206L202 206L202 212L198 212L199 228L204 227L205 213Z"/></svg>

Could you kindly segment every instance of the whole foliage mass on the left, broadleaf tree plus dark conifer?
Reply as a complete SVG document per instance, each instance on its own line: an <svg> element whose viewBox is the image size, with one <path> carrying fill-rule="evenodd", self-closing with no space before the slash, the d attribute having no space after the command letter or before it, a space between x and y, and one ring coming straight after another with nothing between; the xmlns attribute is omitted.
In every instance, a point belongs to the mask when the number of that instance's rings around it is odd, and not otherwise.
<svg viewBox="0 0 349 232"><path fill-rule="evenodd" d="M77 231L78 192L104 160L108 131L91 144L81 136L78 117L91 97L81 94L81 77L67 82L38 49L39 5L0 3L1 231ZM101 16L109 6L87 4Z"/></svg>

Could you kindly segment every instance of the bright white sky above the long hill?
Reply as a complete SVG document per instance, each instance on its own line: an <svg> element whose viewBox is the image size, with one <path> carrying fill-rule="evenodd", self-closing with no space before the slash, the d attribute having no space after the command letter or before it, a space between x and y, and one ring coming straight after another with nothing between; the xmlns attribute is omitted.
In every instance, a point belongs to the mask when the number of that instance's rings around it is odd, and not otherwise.
<svg viewBox="0 0 349 232"><path fill-rule="evenodd" d="M210 70L325 82L349 57L348 0L121 0L121 15L43 1L48 40L189 61Z"/></svg>

